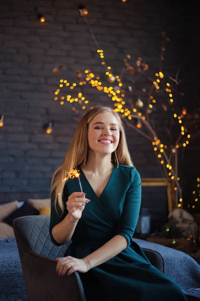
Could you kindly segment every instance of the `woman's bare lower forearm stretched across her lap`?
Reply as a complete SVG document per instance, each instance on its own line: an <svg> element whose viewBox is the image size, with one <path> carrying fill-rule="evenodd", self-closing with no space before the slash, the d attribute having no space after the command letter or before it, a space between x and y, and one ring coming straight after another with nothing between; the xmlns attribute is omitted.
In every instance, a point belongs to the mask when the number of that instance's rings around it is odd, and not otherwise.
<svg viewBox="0 0 200 301"><path fill-rule="evenodd" d="M102 247L84 257L88 269L97 266L110 258L116 256L127 247L127 240L122 235L115 235Z"/></svg>

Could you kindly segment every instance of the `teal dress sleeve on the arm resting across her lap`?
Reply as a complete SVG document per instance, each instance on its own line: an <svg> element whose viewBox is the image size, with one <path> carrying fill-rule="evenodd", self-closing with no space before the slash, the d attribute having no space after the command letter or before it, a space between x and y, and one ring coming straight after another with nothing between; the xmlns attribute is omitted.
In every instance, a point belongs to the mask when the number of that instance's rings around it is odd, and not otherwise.
<svg viewBox="0 0 200 301"><path fill-rule="evenodd" d="M125 194L123 211L116 231L117 235L127 239L128 246L132 241L141 204L141 179L135 168L130 170L130 178L130 186Z"/></svg>

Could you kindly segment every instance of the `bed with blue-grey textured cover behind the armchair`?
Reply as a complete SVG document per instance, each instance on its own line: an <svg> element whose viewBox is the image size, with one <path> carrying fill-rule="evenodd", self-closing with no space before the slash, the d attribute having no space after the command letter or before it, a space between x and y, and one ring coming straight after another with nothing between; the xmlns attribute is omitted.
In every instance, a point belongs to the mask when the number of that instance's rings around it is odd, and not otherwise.
<svg viewBox="0 0 200 301"><path fill-rule="evenodd" d="M140 247L155 250L164 259L165 274L186 290L200 288L200 265L189 255L155 243L133 238ZM0 301L27 301L15 238L0 240Z"/></svg>

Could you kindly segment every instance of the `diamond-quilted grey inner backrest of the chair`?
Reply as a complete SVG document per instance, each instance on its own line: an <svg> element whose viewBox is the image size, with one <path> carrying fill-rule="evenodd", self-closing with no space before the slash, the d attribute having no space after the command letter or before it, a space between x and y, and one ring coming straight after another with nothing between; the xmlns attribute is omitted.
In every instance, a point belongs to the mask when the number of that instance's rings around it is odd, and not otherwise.
<svg viewBox="0 0 200 301"><path fill-rule="evenodd" d="M22 216L13 221L26 247L33 252L49 258L62 257L68 248L70 242L61 246L52 243L49 234L49 215Z"/></svg>

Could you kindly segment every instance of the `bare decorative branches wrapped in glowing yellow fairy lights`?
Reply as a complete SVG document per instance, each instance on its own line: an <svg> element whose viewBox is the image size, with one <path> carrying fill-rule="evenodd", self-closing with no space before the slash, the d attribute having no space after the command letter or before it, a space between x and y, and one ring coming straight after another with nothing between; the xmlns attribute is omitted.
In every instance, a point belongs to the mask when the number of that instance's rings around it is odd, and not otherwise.
<svg viewBox="0 0 200 301"><path fill-rule="evenodd" d="M121 69L120 76L113 75L113 72L111 71L111 67L108 66L104 59L104 53L103 50L100 49L99 43L92 31L91 23L87 21L87 18L85 15L82 15L83 20L85 24L88 27L88 30L91 34L91 37L94 41L94 44L96 45L97 53L100 56L101 59L101 65L105 68L105 75L107 76L107 81L109 83L109 86L102 85L102 81L99 79L98 76L95 76L94 73L92 73L90 70L85 70L85 79L82 79L82 75L78 77L79 79L79 86L81 86L81 93L80 96L76 98L71 98L71 95L66 96L66 100L70 102L77 101L79 105L81 105L82 109L84 110L87 106L88 100L85 100L83 97L83 85L88 83L90 86L98 89L99 91L103 91L107 94L108 97L111 97L113 106L115 107L113 110L115 112L118 112L120 117L123 119L124 123L132 128L133 130L137 131L139 134L144 136L148 141L151 141L152 145L154 145L154 151L156 154L157 162L159 162L158 166L162 167L163 173L165 177L171 176L171 180L174 181L175 184L175 199L174 199L174 193L171 191L171 197L174 202L174 206L176 207L182 207L182 190L179 185L179 178L178 178L178 151L183 147L185 149L185 146L189 143L190 134L185 135L185 132L187 130L182 125L182 122L186 124L187 119L185 118L186 110L182 110L182 108L176 108L175 113L175 107L174 107L174 96L173 93L178 93L180 95L184 95L183 93L177 92L177 89L173 87L172 83L163 81L163 61L164 61L164 54L165 54L165 45L170 40L166 37L165 32L162 32L162 43L160 48L160 55L159 55L159 72L155 73L155 77L152 78L147 75L146 71L148 70L148 65L145 62L142 62L141 57L137 57L137 59L130 63L130 55L126 55L126 57L123 59L124 66ZM133 103L133 96L131 94L132 87L128 86L128 88L122 83L122 78L125 78L126 73L128 73L128 77L126 77L126 80L128 79L130 83L136 84L142 76L144 76L149 82L151 82L151 86L147 91L147 94L142 98L142 100L138 97L136 102ZM130 76L131 75L131 76ZM180 83L180 80L178 79L179 76L179 70L177 71L175 78L168 77L172 82L175 83L177 86ZM63 80L62 80L63 81ZM67 82L65 80L65 82ZM60 87L62 87L62 82L60 80ZM114 85L112 85L114 83ZM67 85L67 84L66 84ZM74 86L76 86L76 83L71 84L70 89L73 89ZM57 89L55 94L58 94L60 89ZM142 88L143 92L146 92L145 88ZM162 102L161 106L160 103L157 101L158 95L166 95L167 94L167 102ZM156 96L156 97L155 97ZM129 107L127 101L124 101L123 99L128 99ZM54 98L57 100L57 96ZM145 101L145 109L143 108ZM60 104L63 104L63 101L60 102ZM82 105L83 104L83 105ZM157 115L161 117L161 122L163 124L163 118L168 118L169 113L167 116L164 114L164 111L171 111L172 113L172 120L170 120L170 126L168 126L168 123L165 122L165 126L162 128L165 129L165 132L168 134L171 145L168 147L170 150L169 152L166 145L163 145L163 143L158 138L158 130L159 126L157 126L157 122L155 122L155 119L153 118L153 107L158 112ZM75 107L73 107L75 108ZM160 114L160 110L161 114ZM76 109L75 109L76 110ZM159 110L159 111L158 111ZM180 112L181 111L181 112ZM165 117L166 116L166 117ZM198 119L199 116L197 116ZM131 120L136 120L135 122L132 122ZM200 118L199 118L200 119ZM175 143L173 143L173 137L172 137L172 131L174 126L176 126L176 123L174 122L176 120L177 125L180 126L180 134L178 135ZM194 122L196 124L196 122ZM142 127L143 126L143 127ZM193 125L194 127L194 125ZM147 131L147 133L146 133ZM196 130L197 131L197 130ZM158 160L160 159L160 161ZM167 169L169 169L169 172L167 172ZM177 180L178 179L178 180ZM179 201L179 203L178 203Z"/></svg>

